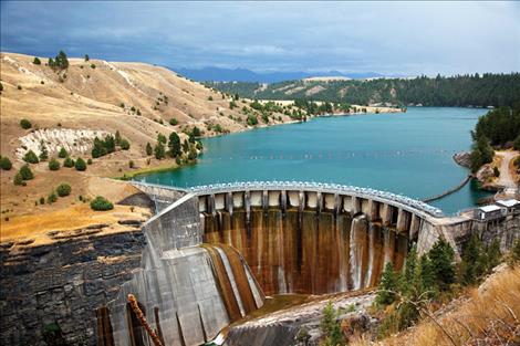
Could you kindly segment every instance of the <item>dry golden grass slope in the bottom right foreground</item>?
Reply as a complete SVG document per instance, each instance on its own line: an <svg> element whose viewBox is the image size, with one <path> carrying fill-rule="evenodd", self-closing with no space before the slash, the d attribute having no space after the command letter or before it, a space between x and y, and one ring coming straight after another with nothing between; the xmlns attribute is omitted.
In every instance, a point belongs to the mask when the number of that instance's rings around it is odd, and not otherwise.
<svg viewBox="0 0 520 346"><path fill-rule="evenodd" d="M435 317L439 325L425 317L417 326L384 339L382 345L520 345L520 268L493 274L465 297ZM371 343L360 336L351 345Z"/></svg>

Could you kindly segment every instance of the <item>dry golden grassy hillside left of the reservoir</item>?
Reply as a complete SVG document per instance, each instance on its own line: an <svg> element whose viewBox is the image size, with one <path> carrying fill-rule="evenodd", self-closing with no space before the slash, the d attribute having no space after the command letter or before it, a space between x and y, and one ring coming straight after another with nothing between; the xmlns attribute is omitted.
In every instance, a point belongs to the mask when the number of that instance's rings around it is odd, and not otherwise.
<svg viewBox="0 0 520 346"><path fill-rule="evenodd" d="M14 53L0 54L3 87L0 95L1 155L13 164L11 170L1 171L2 220L20 213L63 208L74 200L77 202L80 195L93 197L100 190L110 195L111 184L98 177L122 176L131 170L129 160L135 164L133 170L171 167L175 165L173 159L159 161L146 156L146 144L154 146L159 133L168 137L171 132L177 132L184 139L187 136L183 132L189 132L194 126L202 130L202 136L216 134L208 125L218 124L229 132L248 128L247 115L242 113L242 107L249 108L247 101L236 102L237 107L230 109L228 96L164 67L69 59L66 70L54 71L46 66L48 59L40 57L40 65L33 64L33 59ZM22 129L22 118L29 119L32 128ZM178 124L170 125L171 118ZM269 125L287 120L290 120L288 116L277 114ZM90 129L112 134L118 130L129 140L131 148L94 159L84 172L73 168L50 171L46 161L31 165L35 178L25 187L14 186L13 177L24 164L21 155L17 156L17 149L23 148L20 138L38 129ZM52 157L56 153L50 154ZM86 160L90 150L74 156ZM46 197L62 181L72 185L70 197L53 205L35 206L37 200ZM112 195L115 199L124 196Z"/></svg>

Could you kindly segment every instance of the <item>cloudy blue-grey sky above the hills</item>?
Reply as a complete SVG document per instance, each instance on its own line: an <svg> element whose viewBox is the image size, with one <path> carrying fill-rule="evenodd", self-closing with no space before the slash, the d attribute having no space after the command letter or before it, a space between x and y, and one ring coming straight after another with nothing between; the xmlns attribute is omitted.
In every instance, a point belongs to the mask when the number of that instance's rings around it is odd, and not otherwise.
<svg viewBox="0 0 520 346"><path fill-rule="evenodd" d="M520 2L1 2L1 50L171 67L520 71Z"/></svg>

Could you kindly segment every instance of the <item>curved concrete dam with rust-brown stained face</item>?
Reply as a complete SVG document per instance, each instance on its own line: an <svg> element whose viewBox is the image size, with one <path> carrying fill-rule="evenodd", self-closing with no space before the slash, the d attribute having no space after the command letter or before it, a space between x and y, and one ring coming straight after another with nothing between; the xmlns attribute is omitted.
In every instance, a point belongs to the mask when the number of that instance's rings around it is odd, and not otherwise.
<svg viewBox="0 0 520 346"><path fill-rule="evenodd" d="M200 345L266 295L372 287L386 262L403 266L410 243L424 252L447 238L440 210L372 189L135 186L157 213L143 227L141 269L97 310L100 345Z"/></svg>

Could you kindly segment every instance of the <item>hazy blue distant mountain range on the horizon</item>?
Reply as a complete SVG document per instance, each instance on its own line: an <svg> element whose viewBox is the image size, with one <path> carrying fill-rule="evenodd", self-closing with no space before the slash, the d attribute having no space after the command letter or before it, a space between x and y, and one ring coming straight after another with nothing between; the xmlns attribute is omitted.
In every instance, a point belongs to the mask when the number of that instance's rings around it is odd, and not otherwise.
<svg viewBox="0 0 520 346"><path fill-rule="evenodd" d="M320 77L320 76L342 76L353 80L361 78L376 78L383 77L384 75L375 72L366 73L342 73L339 71L329 71L320 73L309 72L266 72L259 73L247 69L220 69L220 67L204 67L204 69L171 69L177 73L198 81L212 81L212 82L258 82L258 83L277 83L283 81L294 81L308 77Z"/></svg>

